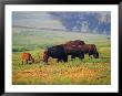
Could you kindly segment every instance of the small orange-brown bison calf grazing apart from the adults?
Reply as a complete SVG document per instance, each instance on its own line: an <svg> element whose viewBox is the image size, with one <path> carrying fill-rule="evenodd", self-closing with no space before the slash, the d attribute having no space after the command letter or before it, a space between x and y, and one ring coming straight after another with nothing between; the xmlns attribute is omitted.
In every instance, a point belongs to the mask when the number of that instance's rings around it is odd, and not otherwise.
<svg viewBox="0 0 122 96"><path fill-rule="evenodd" d="M32 55L30 53L22 53L21 58L22 58L22 64L23 62L28 64L29 61L31 61L32 63L34 62L34 58L32 58Z"/></svg>

